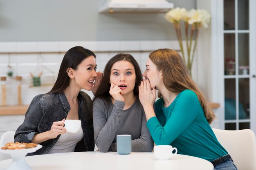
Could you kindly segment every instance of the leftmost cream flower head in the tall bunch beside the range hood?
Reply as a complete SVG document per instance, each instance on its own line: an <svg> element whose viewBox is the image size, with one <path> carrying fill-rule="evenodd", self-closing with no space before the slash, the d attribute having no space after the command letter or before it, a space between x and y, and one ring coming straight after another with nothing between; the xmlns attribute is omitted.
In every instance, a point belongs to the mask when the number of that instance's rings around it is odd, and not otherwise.
<svg viewBox="0 0 256 170"><path fill-rule="evenodd" d="M165 14L165 19L169 22L180 22L180 20L187 20L188 18L188 11L186 11L185 8L175 8L175 9L171 9L170 11L168 11Z"/></svg>

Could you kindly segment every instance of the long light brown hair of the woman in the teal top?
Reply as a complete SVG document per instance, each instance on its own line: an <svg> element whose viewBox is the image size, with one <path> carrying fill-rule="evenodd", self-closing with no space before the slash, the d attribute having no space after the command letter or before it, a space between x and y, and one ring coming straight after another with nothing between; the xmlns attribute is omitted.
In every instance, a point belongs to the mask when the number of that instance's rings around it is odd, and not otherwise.
<svg viewBox="0 0 256 170"><path fill-rule="evenodd" d="M204 110L205 118L208 123L215 118L215 114L209 106L206 97L195 85L189 75L189 70L186 68L184 60L175 50L159 49L149 54L149 59L157 66L158 70L162 70L164 86L171 92L182 92L185 89L190 89L198 97L198 100ZM159 92L158 97L162 97Z"/></svg>

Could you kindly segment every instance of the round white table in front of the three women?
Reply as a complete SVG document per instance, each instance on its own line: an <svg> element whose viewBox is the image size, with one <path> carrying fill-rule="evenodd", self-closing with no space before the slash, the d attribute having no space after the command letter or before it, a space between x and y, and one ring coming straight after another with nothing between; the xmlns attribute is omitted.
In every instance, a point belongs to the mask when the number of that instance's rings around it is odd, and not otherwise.
<svg viewBox="0 0 256 170"><path fill-rule="evenodd" d="M12 159L0 161L6 169ZM154 153L76 152L25 157L33 170L213 170L211 162L187 155L158 160Z"/></svg>

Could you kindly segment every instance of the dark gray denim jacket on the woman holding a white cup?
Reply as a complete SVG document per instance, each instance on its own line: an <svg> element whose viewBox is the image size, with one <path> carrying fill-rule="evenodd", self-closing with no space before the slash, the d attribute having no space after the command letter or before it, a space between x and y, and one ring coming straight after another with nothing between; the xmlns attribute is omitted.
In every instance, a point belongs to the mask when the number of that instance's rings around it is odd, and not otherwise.
<svg viewBox="0 0 256 170"><path fill-rule="evenodd" d="M79 100L79 120L83 129L83 139L76 144L75 152L93 151L94 134L92 119L92 100L85 92L80 92ZM14 135L15 142L30 143L33 136L38 133L49 131L53 122L67 118L70 105L64 93L61 94L40 94L35 96L27 109L24 122L18 127ZM49 139L40 143L43 147L29 155L47 154L56 144L58 135L55 139Z"/></svg>

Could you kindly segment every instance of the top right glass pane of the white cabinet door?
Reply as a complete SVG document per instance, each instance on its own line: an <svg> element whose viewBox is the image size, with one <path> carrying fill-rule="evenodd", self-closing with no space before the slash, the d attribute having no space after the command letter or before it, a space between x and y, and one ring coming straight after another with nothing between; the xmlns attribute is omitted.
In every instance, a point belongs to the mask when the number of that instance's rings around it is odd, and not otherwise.
<svg viewBox="0 0 256 170"><path fill-rule="evenodd" d="M237 3L238 30L249 30L249 0L238 0Z"/></svg>

